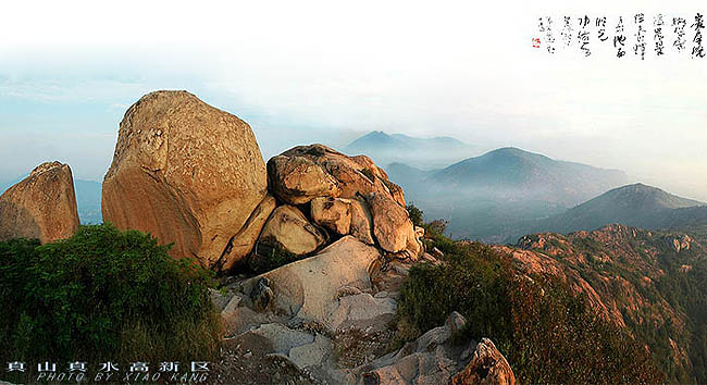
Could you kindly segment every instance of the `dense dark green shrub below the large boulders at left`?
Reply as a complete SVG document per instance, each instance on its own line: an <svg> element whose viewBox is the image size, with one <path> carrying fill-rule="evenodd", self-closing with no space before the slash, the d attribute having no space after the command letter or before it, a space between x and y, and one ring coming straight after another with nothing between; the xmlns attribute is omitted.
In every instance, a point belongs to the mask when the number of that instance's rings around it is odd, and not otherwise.
<svg viewBox="0 0 707 385"><path fill-rule="evenodd" d="M221 325L212 278L168 249L108 224L44 246L0 243L0 358L213 358Z"/></svg>

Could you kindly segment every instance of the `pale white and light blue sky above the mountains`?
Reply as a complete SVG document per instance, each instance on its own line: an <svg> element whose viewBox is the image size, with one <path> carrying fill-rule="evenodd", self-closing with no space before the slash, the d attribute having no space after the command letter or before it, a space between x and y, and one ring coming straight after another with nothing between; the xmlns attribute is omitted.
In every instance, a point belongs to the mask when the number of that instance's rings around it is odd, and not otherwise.
<svg viewBox="0 0 707 385"><path fill-rule="evenodd" d="M633 15L643 12L640 61ZM687 51L704 1L79 1L3 4L0 181L67 162L101 181L123 113L146 92L187 89L253 127L266 157L344 146L373 129L452 136L620 169L707 201L707 58ZM653 17L666 54L653 52ZM532 47L537 17L623 16L628 54L596 39L555 55ZM576 33L579 27L574 26Z"/></svg>

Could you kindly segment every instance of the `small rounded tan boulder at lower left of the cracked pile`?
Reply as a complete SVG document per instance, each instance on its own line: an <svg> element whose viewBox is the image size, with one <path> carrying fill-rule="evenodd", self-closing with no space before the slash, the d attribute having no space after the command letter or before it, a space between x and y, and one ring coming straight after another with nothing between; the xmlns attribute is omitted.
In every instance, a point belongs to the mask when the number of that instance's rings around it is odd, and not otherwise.
<svg viewBox="0 0 707 385"><path fill-rule="evenodd" d="M275 244L301 256L317 250L326 238L305 214L294 206L281 206L273 211L260 234L259 243Z"/></svg>

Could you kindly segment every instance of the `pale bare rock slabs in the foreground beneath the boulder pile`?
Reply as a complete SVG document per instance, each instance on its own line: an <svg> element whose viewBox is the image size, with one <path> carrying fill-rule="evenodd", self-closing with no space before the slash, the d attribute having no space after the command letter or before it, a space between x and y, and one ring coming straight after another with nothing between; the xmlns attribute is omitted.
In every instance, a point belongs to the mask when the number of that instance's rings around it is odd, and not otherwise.
<svg viewBox="0 0 707 385"><path fill-rule="evenodd" d="M365 250L372 250L371 257L360 259ZM222 312L234 332L228 344L243 359L278 357L318 384L514 384L493 343L455 343L451 337L467 323L458 312L387 352L395 334L388 323L397 310L393 298L399 294L387 290L398 290L400 280L387 269L393 275L376 273L369 281L376 254L375 248L345 236L319 256L239 283L241 294ZM263 287L272 288L272 300L264 312L256 312L249 297L260 297ZM271 376L273 382L278 377Z"/></svg>

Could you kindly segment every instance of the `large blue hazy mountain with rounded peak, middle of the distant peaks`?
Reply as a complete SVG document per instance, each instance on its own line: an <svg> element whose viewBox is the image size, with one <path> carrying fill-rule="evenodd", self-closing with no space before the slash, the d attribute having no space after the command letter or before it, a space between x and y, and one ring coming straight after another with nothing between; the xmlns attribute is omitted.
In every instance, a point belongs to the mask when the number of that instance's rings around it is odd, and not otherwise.
<svg viewBox="0 0 707 385"><path fill-rule="evenodd" d="M438 170L393 163L390 179L427 219L449 221L457 238L514 241L525 222L563 213L629 183L625 173L501 148ZM516 237L516 238L513 238Z"/></svg>

